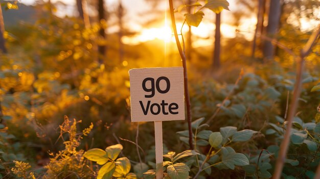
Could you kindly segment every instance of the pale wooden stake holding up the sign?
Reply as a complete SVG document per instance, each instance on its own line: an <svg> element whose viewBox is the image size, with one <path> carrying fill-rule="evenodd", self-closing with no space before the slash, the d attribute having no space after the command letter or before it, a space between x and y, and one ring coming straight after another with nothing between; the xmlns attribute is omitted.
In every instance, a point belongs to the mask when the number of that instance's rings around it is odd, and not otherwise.
<svg viewBox="0 0 320 179"><path fill-rule="evenodd" d="M154 121L156 179L163 179L162 121Z"/></svg>

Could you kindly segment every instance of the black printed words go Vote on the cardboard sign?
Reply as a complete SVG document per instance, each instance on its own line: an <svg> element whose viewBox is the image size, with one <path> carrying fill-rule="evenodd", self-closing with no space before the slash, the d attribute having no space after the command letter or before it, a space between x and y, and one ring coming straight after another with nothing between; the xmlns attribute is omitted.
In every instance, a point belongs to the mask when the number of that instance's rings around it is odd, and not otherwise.
<svg viewBox="0 0 320 179"><path fill-rule="evenodd" d="M160 88L161 81L165 82L165 84L166 84L165 89ZM151 84L150 88L148 88L146 86L148 82ZM168 93L170 90L170 80L165 76L159 77L156 81L154 81L153 78L145 78L142 82L142 88L146 92L149 92L149 93L151 92L150 94L146 94L145 97L152 98L152 97L154 97L156 91L161 94ZM151 103L151 100L148 100L146 105L144 105L143 101L141 101L141 100L139 101L139 103L140 103L140 106L141 106L141 109L142 109L144 115L148 114L149 109L150 109L151 114L153 114L153 115L158 115L161 112L164 115L168 115L169 113L170 114L178 114L179 113L177 111L174 111L179 108L178 104L176 104L176 103L168 104L165 102L165 100L162 100L161 104ZM166 110L166 109L168 109L168 110Z"/></svg>

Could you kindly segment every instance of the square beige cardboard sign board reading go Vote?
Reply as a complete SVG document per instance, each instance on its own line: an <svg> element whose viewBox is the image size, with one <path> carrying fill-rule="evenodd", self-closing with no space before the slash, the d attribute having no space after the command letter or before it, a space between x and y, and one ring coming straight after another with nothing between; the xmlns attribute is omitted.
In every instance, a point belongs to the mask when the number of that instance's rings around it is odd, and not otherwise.
<svg viewBox="0 0 320 179"><path fill-rule="evenodd" d="M185 120L182 67L129 70L131 121Z"/></svg>

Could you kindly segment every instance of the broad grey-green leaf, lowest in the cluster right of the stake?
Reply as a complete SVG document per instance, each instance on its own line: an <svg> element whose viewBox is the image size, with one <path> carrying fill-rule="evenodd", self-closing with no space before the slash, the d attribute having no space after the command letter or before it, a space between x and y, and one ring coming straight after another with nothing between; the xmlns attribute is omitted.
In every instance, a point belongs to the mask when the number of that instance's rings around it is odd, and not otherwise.
<svg viewBox="0 0 320 179"><path fill-rule="evenodd" d="M222 156L222 163L228 168L234 170L235 165L244 166L249 165L249 160L241 153L234 153L227 156Z"/></svg>

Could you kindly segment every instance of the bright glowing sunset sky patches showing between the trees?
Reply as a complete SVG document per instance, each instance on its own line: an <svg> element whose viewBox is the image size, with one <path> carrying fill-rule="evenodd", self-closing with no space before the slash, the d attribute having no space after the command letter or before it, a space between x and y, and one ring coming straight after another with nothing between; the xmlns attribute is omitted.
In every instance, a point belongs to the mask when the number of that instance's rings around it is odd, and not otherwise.
<svg viewBox="0 0 320 179"><path fill-rule="evenodd" d="M58 0L51 0L53 3L57 2ZM168 0L158 0L160 5L158 6L159 9L166 10L169 9ZM20 3L24 3L27 5L34 4L34 0L19 0ZM119 0L105 0L107 7L111 10L115 10ZM184 0L181 0L180 4L174 4L174 7L177 8L179 5L181 5L184 2ZM236 0L228 0L230 3L229 9L230 11L223 10L221 14L222 18L222 24L221 24L221 34L223 38L234 38L236 37L236 29L240 29L242 31L248 31L248 32L254 32L256 28L256 15L253 14L252 17L248 18L242 18L240 21L240 25L238 27L235 27L233 25L230 25L233 21L233 15L232 12L236 11L237 5ZM64 15L77 15L77 12L75 10L75 3L76 0L63 0L63 3L65 3L67 6L58 9L57 15L58 16L64 16ZM153 39L161 39L166 42L174 41L174 38L172 36L171 27L168 21L168 16L165 14L165 11L163 15L157 15L157 18L162 18L162 23L157 24L154 27L145 27L144 21L146 19L150 19L150 14L148 14L148 10L152 10L151 4L146 3L145 0L122 0L122 4L125 8L126 14L124 17L124 23L125 26L130 29L131 31L138 32L138 35L135 35L133 37L124 37L122 40L124 43L131 43L131 44L138 44L140 42L153 40ZM109 9L109 10L110 10ZM215 31L215 24L214 19L215 15L212 11L208 9L204 9L204 17L202 19L202 22L200 25L196 27L192 27L192 32L198 37L201 37L200 39L197 39L193 42L194 47L199 46L209 46L213 43L213 36ZM167 18L166 18L167 16ZM175 16L183 17L183 13L178 14L176 13ZM115 18L115 17L113 17ZM167 20L166 20L167 19ZM112 18L110 19L112 21ZM182 21L176 20L177 22L177 29L181 29ZM307 22L304 25L305 29L307 30L308 24ZM108 29L109 33L117 32L118 27L113 26ZM182 32L187 32L188 27L187 25L184 26L184 29L182 29ZM244 34L245 38L247 40L253 39L253 33L246 33Z"/></svg>

